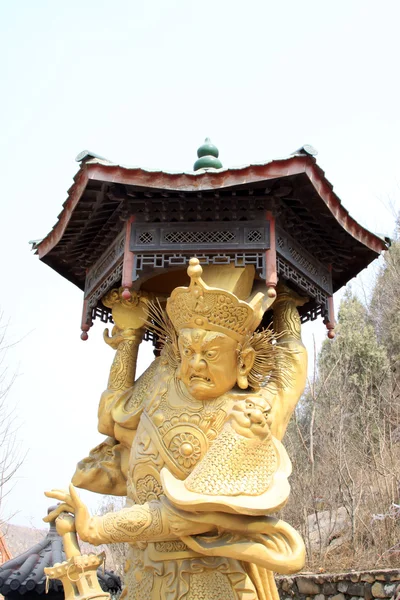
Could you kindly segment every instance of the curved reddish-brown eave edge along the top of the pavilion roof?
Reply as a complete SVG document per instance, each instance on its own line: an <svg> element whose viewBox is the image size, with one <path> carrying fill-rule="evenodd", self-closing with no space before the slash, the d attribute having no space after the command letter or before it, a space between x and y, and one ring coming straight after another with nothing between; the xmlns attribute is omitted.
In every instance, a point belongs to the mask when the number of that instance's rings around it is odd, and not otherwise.
<svg viewBox="0 0 400 600"><path fill-rule="evenodd" d="M258 163L229 169L207 169L188 173L172 173L126 167L107 160L93 158L82 163L68 190L67 200L58 221L47 236L34 246L39 258L54 248L63 236L71 215L90 180L105 183L135 185L166 191L212 191L230 188L280 177L304 173L341 227L353 238L379 254L387 249L387 243L353 219L334 193L332 184L312 156L298 154L267 163Z"/></svg>

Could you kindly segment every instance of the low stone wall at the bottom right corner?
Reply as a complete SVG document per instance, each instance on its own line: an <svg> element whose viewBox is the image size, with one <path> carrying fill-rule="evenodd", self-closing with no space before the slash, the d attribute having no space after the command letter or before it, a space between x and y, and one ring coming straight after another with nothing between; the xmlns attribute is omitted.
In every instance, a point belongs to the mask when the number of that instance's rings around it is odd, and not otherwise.
<svg viewBox="0 0 400 600"><path fill-rule="evenodd" d="M400 570L277 577L281 600L400 600Z"/></svg>

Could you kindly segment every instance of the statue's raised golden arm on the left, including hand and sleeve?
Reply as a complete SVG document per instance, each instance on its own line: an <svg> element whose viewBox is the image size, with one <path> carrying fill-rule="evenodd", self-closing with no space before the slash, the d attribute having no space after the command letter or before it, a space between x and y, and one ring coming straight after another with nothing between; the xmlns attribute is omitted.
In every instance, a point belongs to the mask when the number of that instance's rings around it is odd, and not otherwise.
<svg viewBox="0 0 400 600"><path fill-rule="evenodd" d="M98 408L98 431L107 436L82 459L72 478L74 485L99 494L126 496L129 454L143 410L142 399L157 368L154 361L135 381L139 345L148 317L149 295L134 292L128 300L122 288L111 290L102 302L112 309L114 327L104 341L115 350L107 388Z"/></svg>

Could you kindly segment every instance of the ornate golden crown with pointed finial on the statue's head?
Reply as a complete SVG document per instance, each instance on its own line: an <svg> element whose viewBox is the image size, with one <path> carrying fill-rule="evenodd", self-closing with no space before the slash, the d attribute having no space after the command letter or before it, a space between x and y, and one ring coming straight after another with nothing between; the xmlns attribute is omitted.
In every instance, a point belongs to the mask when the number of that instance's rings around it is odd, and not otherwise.
<svg viewBox="0 0 400 600"><path fill-rule="evenodd" d="M176 331L218 331L238 342L255 331L263 317L264 294L256 294L247 303L226 290L209 287L201 278L203 269L197 258L190 259L187 273L190 286L175 288L167 301L167 313Z"/></svg>

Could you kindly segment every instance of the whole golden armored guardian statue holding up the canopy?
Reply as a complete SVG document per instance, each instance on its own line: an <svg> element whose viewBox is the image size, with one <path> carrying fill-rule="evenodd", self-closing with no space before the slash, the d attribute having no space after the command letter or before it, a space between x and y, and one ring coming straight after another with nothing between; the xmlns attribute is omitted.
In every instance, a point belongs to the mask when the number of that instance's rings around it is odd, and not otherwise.
<svg viewBox="0 0 400 600"><path fill-rule="evenodd" d="M126 508L91 517L71 485L47 492L61 504L46 520L69 512L82 540L128 542L129 600L277 600L273 572L305 558L299 534L271 516L289 495L281 440L305 385L305 299L283 286L268 296L253 267L203 274L192 258L188 275L166 311L144 292L103 299L116 349L98 415L108 437L72 481L126 495ZM258 330L271 305L274 331ZM162 351L134 383L145 322Z"/></svg>

